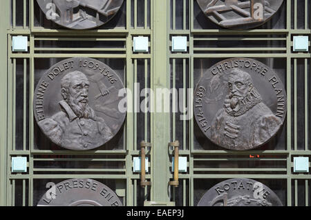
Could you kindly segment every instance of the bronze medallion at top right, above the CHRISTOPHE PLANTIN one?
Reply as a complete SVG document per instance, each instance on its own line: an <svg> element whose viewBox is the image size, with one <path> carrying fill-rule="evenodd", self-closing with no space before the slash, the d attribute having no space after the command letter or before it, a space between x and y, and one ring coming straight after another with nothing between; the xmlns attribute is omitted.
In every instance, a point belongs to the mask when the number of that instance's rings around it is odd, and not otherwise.
<svg viewBox="0 0 311 220"><path fill-rule="evenodd" d="M281 7L283 0L197 0L202 12L224 28L245 30L261 26Z"/></svg>

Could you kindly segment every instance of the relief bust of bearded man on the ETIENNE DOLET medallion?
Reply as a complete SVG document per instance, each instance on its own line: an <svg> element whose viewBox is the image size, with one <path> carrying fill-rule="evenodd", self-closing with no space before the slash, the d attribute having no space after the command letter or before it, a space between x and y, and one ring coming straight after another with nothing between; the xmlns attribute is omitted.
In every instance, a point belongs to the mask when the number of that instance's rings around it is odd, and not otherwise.
<svg viewBox="0 0 311 220"><path fill-rule="evenodd" d="M79 71L66 74L61 80L61 111L39 121L43 132L54 142L68 149L87 150L106 143L113 136L104 119L88 106L86 75Z"/></svg>

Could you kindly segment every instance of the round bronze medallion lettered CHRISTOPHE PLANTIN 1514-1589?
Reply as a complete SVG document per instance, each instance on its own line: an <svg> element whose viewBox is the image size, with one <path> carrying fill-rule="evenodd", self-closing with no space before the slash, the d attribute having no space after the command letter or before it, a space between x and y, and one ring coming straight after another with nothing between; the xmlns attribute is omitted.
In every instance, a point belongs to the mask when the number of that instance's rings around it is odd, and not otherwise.
<svg viewBox="0 0 311 220"><path fill-rule="evenodd" d="M254 59L216 63L194 91L194 116L200 130L230 150L267 143L281 128L286 111L286 92L278 74Z"/></svg>

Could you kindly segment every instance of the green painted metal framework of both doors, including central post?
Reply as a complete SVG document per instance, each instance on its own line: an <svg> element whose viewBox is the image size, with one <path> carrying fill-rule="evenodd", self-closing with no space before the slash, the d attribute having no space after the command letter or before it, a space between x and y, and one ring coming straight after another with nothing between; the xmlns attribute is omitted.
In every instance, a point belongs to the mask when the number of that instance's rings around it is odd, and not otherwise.
<svg viewBox="0 0 311 220"><path fill-rule="evenodd" d="M19 0L12 0L13 5ZM296 82L296 72L292 73L291 71L291 63L294 61L294 67L296 67L297 59L304 59L305 66L308 64L308 60L310 61L310 52L308 53L296 53L292 52L292 36L299 34L308 34L311 37L311 31L308 29L308 26L305 26L305 29L297 29L296 24L296 8L297 8L297 0L285 0L286 10L287 10L287 23L286 29L284 30L247 30L247 31L236 31L236 30L198 30L194 29L194 3L195 0L172 0L173 6L171 6L169 1L165 0L151 0L151 11L150 17L150 27L148 27L145 23L144 27L138 27L138 15L137 15L137 0L125 0L126 1L126 28L113 28L111 30L88 30L88 31L75 31L75 30L53 30L46 28L37 28L34 26L33 20L33 1L29 0L29 8L30 17L29 17L29 26L26 25L26 0L23 1L23 26L17 27L15 25L16 19L13 16L13 24L9 25L10 21L10 1L6 0L3 3L3 7L1 10L1 21L0 21L0 42L1 42L1 50L0 50L0 63L3 67L3 71L7 74L1 74L0 76L0 90L1 94L6 94L5 96L0 97L0 104L4 106L1 110L0 115L0 205L2 206L14 206L15 205L15 181L22 180L22 188L23 192L26 192L26 184L28 183L28 205L35 205L33 201L32 194L34 192L33 181L35 179L67 179L68 177L88 177L88 178L96 178L96 179L120 179L122 181L123 190L126 190L126 194L124 194L124 204L126 206L137 206L138 205L138 181L140 179L140 175L138 173L132 172L133 167L133 157L137 157L139 155L139 148L137 146L136 140L136 130L137 130L137 114L128 112L126 117L126 124L124 127L124 150L92 150L89 152L72 152L67 150L57 151L57 154L68 155L117 155L122 157L121 159L112 159L113 161L122 161L125 163L124 168L117 170L120 171L120 174L109 174L109 172L114 172L116 170L105 170L105 169L90 169L84 171L91 171L93 174L84 174L81 172L80 174L37 174L39 171L47 171L38 170L34 168L35 161L50 161L50 159L38 159L37 155L48 155L53 154L53 151L50 150L35 150L33 149L33 117L32 110L30 109L30 132L29 132L29 146L30 149L26 149L26 134L23 134L23 150L15 150L15 139L13 138L15 135L15 73L16 73L16 60L21 59L23 63L29 61L30 63L30 97L33 94L34 88L34 74L35 74L35 59L37 58L67 58L67 57L94 57L94 58L111 58L111 59L124 59L124 79L126 79L126 87L134 90L134 83L137 81L137 61L138 59L143 59L145 63L145 70L150 68L150 85L151 89L156 90L156 88L169 88L171 79L169 70L170 70L170 61L173 63L173 87L175 84L176 74L176 59L182 59L183 68L182 68L182 81L185 88L194 88L194 59L204 59L204 58L228 58L228 57L252 57L252 58L261 58L261 57L270 57L270 58L283 58L287 61L286 71L287 71L287 84L286 88L288 94L290 94L291 88L291 76L294 74L294 82ZM147 0L144 0L147 2ZM183 14L189 14L189 19L186 20L186 17L183 17L183 28L182 30L176 30L176 1L182 2L183 6ZM291 6L291 1L294 1L294 8ZM134 25L131 26L131 3L134 4ZM186 8L188 3L189 8ZM311 4L307 0L305 0L305 6L310 7ZM13 7L14 8L14 7ZM147 12L147 6L145 4L144 11ZM170 10L172 10L173 17L172 23L173 28L169 28L169 18L170 18ZM294 28L291 28L291 12L294 12ZM305 14L308 14L308 8L305 8ZM15 14L15 10L12 12ZM147 13L144 14L144 19L147 20ZM305 23L308 21L308 16L305 16ZM311 21L309 21L311 22ZM167 24L166 26L164 24ZM189 23L189 28L187 28L187 23ZM55 53L39 53L43 50L50 50L50 48L36 48L35 41L43 41L43 40L65 40L70 39L72 34L76 34L80 38L89 41L104 41L104 40L113 40L113 41L124 41L125 48L113 48L113 49L97 49L102 51L102 54L92 54L91 51L93 48L82 48L79 51L83 51L84 53L66 53L66 51L75 51L73 48L57 48L57 50L61 50L64 53L55 54ZM29 48L30 51L28 53L12 53L11 51L11 37L14 35L23 34L29 37ZM198 49L194 47L194 41L198 40L196 36L200 35L208 35L205 40L215 41L216 35L223 36L225 40L232 40L232 37L227 37L227 35L236 35L243 34L249 36L251 40L261 40L263 37L257 37L258 35L265 34L274 34L279 37L270 37L269 40L279 40L286 41L286 46L283 48L265 48L267 51L276 51L274 53L265 52L265 53L256 53L258 51L263 50L262 48L249 48L247 49L249 53L241 54L241 53L226 53L226 51L232 50L245 50L245 48L225 48L220 49L218 51L223 50L223 53L204 53L205 51L211 51L212 49L203 48ZM132 52L132 39L133 36L144 35L148 36L150 40L151 52L149 53L133 53ZM172 35L185 35L189 39L189 52L187 53L171 53L169 51L169 46L171 45L171 41L169 41L169 37ZM248 38L245 37L244 40ZM267 40L267 38L265 38ZM71 39L70 39L71 40ZM110 53L111 51L118 50L121 52L120 54ZM147 60L150 61L150 66L147 66ZM189 63L189 69L186 70L186 62ZM23 70L26 72L26 69ZM189 81L186 79L186 73L189 72ZM296 68L294 68L296 71ZM310 72L305 68L304 75L308 76ZM26 75L24 74L24 77ZM147 77L147 71L145 71L145 77ZM296 97L296 83L294 84L294 97ZM145 86L147 86L145 84ZM308 107L308 82L305 82L305 108ZM23 97L23 100L29 101L30 106L32 103L32 98L30 100L26 100L26 97ZM156 101L156 97L155 97ZM294 114L291 111L290 106L294 105ZM297 112L296 112L296 99L294 101L291 100L291 97L288 96L288 118L287 118L287 148L285 150L254 150L254 151L245 151L245 152L232 152L227 150L195 150L194 149L194 119L189 121L189 127L186 128L187 123L183 123L182 128L176 128L176 126L171 126L171 120L173 125L176 123L175 117L172 117L167 113L151 113L150 115L150 128L147 128L147 123L145 123L145 141L150 141L152 143L151 148L151 162L149 164L151 169L151 174L147 174L147 179L151 179L153 183L151 186L151 201L159 201L159 202L167 202L167 201L175 201L176 190L173 188L171 193L167 193L167 183L169 179L173 178L173 174L170 172L169 167L171 163L169 162L169 154L167 154L168 143L171 141L175 141L176 139L176 130L182 129L184 134L183 143L186 143L186 134L187 129L189 130L189 143L188 146L185 146L185 150L180 150L180 155L188 157L188 172L180 174L180 186L182 186L182 205L186 206L194 206L194 183L196 179L227 179L232 177L245 177L245 178L253 178L253 179L283 179L287 181L287 205L295 206L298 204L298 193L297 193L297 182L298 180L305 180L305 194L308 194L308 184L310 184L311 175L310 174L293 174L292 173L292 157L293 156L309 156L311 155L311 151L308 149L308 136L305 137L305 150L297 150L296 146L296 133L294 135L294 150L292 150L291 146L291 134L292 134L292 124L291 117L294 117L294 131L296 131L296 121L297 121ZM25 109L24 105L24 109ZM24 111L24 114L25 111ZM145 115L145 119L147 119L147 114ZM24 115L24 123L23 128L26 128L26 115ZM305 132L308 133L308 111L305 111ZM150 129L150 140L147 140L147 129ZM170 136L171 130L172 137ZM25 130L25 129L24 129ZM171 151L170 151L171 152ZM213 156L234 156L234 160L244 160L243 157L249 154L260 154L263 156L266 155L276 155L278 159L281 161L286 161L285 168L267 168L267 171L272 171L274 174L265 174L262 171L258 170L258 168L247 168L244 171L254 171L255 174L227 174L227 171L241 171L238 168L230 168L223 169L219 168L216 171L220 171L220 174L198 174L198 171L211 172L215 171L214 169L198 169L194 167L195 161L209 161L214 159L215 161L227 161L228 159L223 158L213 158ZM12 156L26 156L28 157L28 174L11 174L10 172L10 159ZM200 158L198 158L200 156ZM209 158L205 158L205 156L209 156ZM267 158L258 159L260 161L265 161ZM101 161L101 160L100 160ZM104 159L102 159L104 161ZM63 169L64 171L67 169ZM49 170L52 172L59 170ZM74 171L70 170L69 171ZM97 171L99 173L97 173ZM108 172L108 174L100 174L100 172ZM223 173L221 173L223 172ZM278 172L282 174L278 174ZM294 203L292 203L292 184L294 184ZM144 196L147 197L147 188L144 189ZM25 194L25 193L24 193ZM187 195L188 194L188 195ZM26 204L25 195L23 195L23 205ZM308 201L305 203L307 206Z"/></svg>

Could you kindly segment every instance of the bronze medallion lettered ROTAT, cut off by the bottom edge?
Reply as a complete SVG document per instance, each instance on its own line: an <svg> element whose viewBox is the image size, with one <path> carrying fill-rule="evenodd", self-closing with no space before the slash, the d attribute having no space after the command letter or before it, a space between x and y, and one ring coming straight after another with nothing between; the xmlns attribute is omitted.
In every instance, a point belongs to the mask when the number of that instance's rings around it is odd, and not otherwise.
<svg viewBox="0 0 311 220"><path fill-rule="evenodd" d="M283 206L279 197L253 179L228 179L202 196L198 206Z"/></svg>

